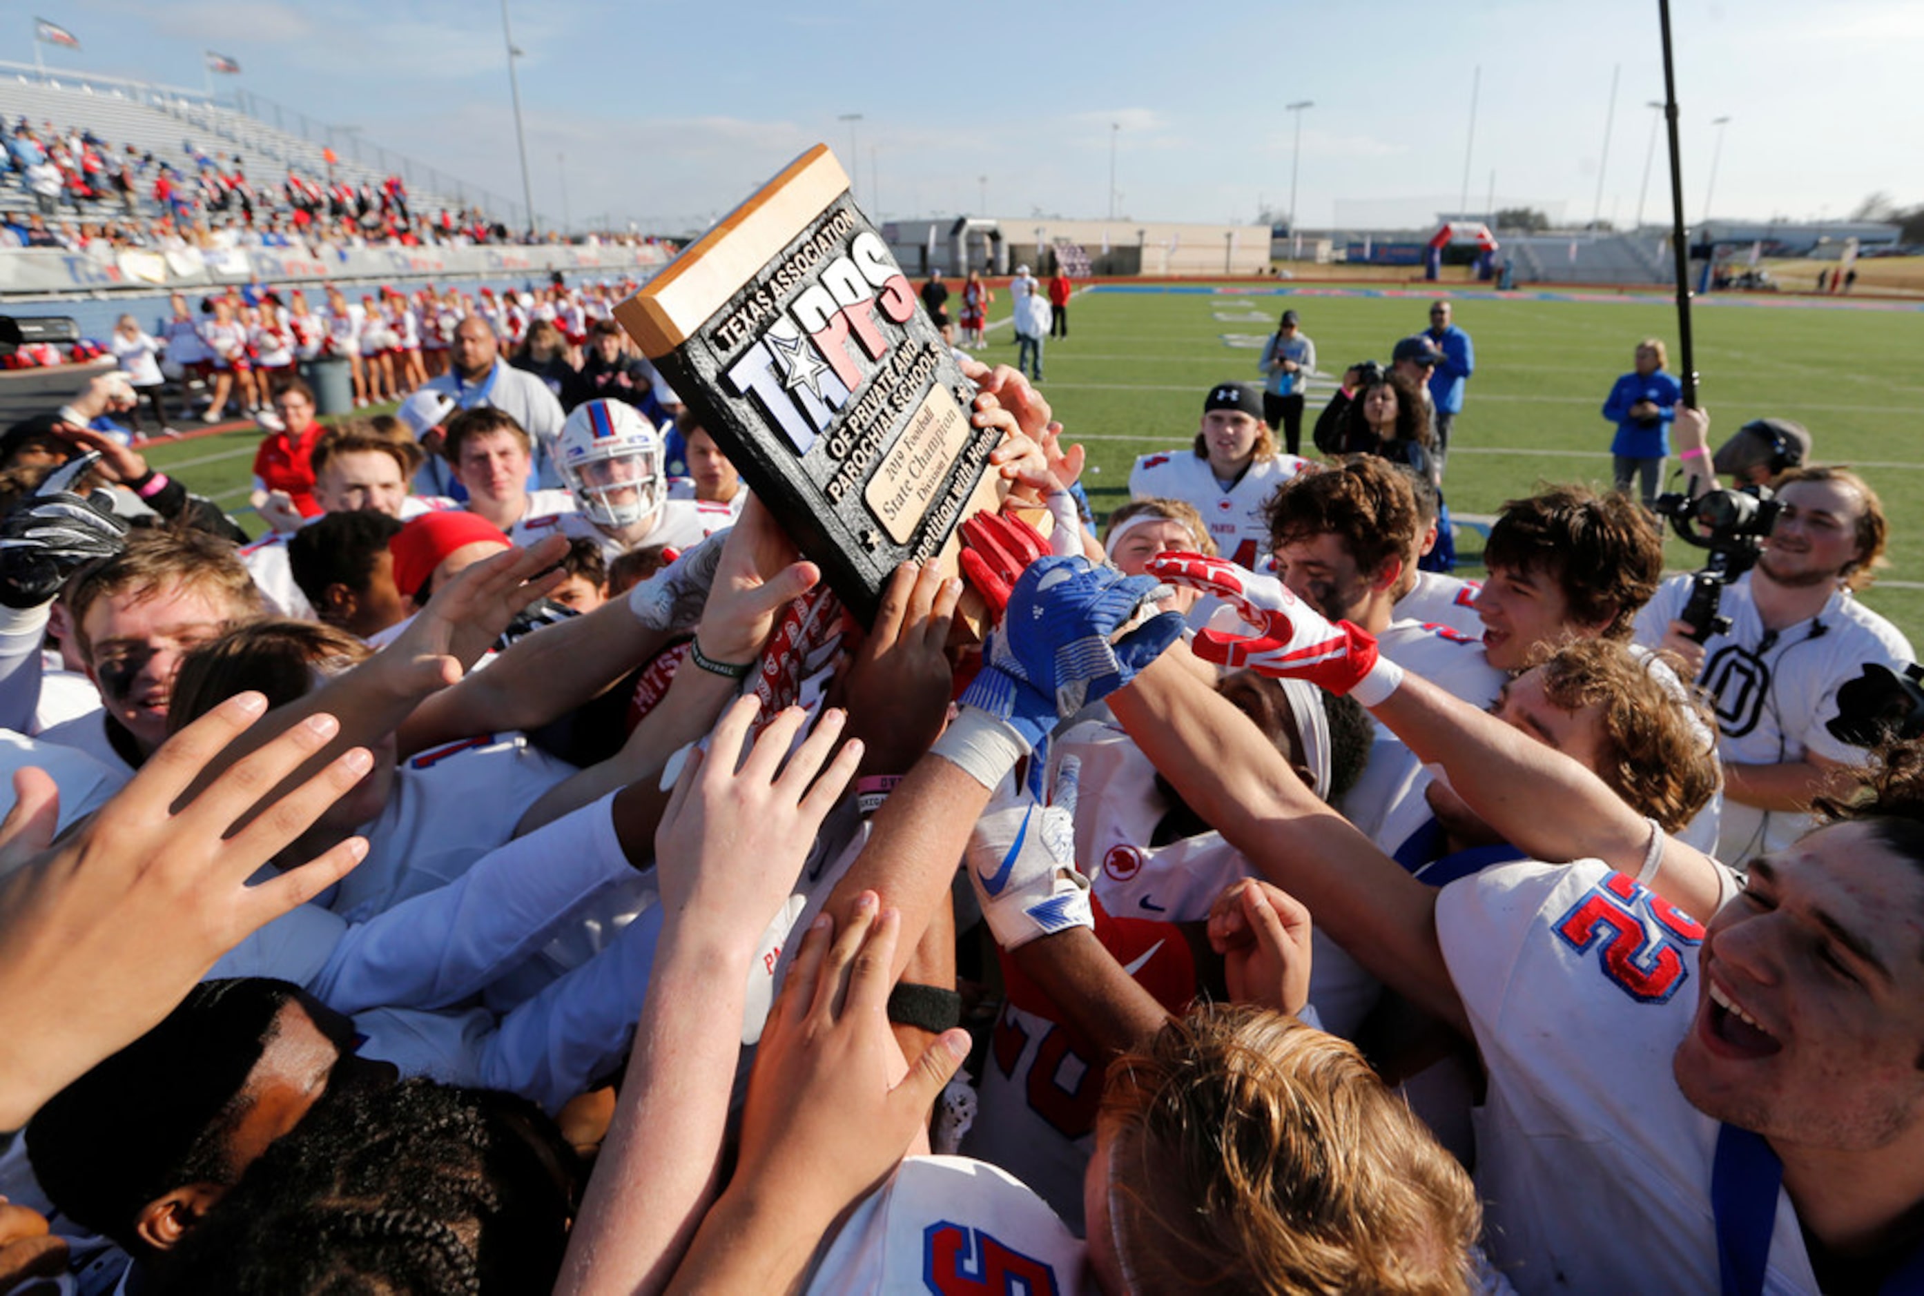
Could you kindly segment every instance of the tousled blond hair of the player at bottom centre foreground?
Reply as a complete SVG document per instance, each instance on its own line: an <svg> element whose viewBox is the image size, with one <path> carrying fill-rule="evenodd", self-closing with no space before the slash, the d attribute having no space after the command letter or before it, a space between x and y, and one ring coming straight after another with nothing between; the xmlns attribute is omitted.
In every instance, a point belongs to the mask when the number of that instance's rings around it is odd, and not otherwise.
<svg viewBox="0 0 1924 1296"><path fill-rule="evenodd" d="M1110 1063L1133 1290L1468 1292L1470 1177L1345 1040L1202 1006Z"/></svg>

